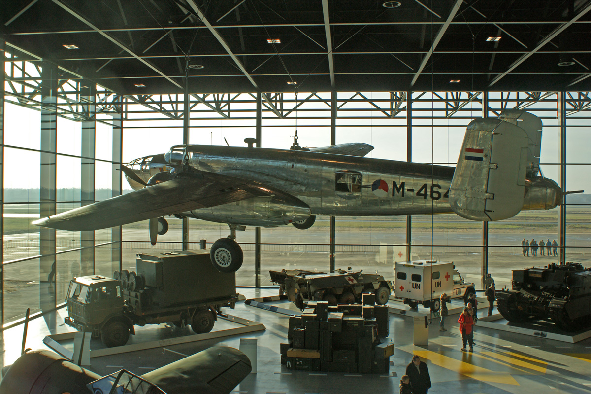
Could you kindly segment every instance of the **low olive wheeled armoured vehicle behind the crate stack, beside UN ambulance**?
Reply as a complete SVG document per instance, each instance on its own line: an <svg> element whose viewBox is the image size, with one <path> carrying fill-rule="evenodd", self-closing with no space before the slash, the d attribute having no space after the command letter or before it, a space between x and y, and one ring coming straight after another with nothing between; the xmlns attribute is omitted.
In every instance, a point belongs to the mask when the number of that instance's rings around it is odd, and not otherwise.
<svg viewBox="0 0 591 394"><path fill-rule="evenodd" d="M392 292L392 283L379 274L366 274L338 269L333 273L305 270L269 271L271 282L279 285L280 294L303 310L306 301L361 303L363 293L375 293L375 303L385 305Z"/></svg>

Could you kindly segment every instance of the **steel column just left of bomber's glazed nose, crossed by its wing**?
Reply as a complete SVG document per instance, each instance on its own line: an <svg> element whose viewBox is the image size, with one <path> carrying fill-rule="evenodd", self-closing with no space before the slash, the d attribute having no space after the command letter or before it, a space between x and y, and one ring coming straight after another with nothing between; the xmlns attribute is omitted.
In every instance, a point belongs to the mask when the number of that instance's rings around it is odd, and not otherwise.
<svg viewBox="0 0 591 394"><path fill-rule="evenodd" d="M117 96L113 99L116 112L113 116L113 167L111 170L111 196L121 195L121 158L123 156L123 98ZM111 273L122 270L122 227L111 229Z"/></svg>

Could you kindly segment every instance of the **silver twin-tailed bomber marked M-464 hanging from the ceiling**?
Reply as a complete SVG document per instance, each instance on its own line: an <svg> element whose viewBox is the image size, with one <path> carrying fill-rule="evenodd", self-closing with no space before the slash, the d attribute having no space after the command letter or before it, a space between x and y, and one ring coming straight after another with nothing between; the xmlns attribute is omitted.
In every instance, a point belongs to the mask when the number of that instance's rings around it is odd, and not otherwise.
<svg viewBox="0 0 591 394"><path fill-rule="evenodd" d="M150 237L167 230L165 215L226 223L210 254L222 272L242 266L236 230L246 225L310 228L316 215L386 216L455 212L475 221L511 218L522 209L552 209L563 201L540 172L542 121L509 109L467 126L457 166L365 156L352 143L290 150L173 146L122 166L134 192L33 222L58 230L99 230L150 219Z"/></svg>

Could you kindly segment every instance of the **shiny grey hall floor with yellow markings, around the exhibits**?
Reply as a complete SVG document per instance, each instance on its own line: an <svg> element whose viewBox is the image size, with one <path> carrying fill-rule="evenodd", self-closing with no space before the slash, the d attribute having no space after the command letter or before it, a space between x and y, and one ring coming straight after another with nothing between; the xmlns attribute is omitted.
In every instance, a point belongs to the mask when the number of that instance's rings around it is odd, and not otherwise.
<svg viewBox="0 0 591 394"><path fill-rule="evenodd" d="M246 298L276 295L277 289L240 288L238 292ZM392 303L392 301L391 301ZM291 303L275 302L282 308L294 312ZM404 306L403 306L404 308ZM424 309L423 311L427 311ZM496 309L495 309L496 311ZM433 320L429 328L429 344L413 345L413 319L389 314L390 337L395 351L391 357L389 374L345 374L324 372L303 372L287 370L280 364L280 343L285 342L288 316L254 308L239 302L230 314L252 319L265 325L265 331L226 337L220 340L172 345L135 351L115 356L91 359L90 370L98 374L109 374L125 367L131 372L144 374L180 359L181 354L193 354L215 344L239 347L240 338L258 339L258 372L250 374L235 388L236 393L397 393L400 376L410 362L413 353L426 361L433 382L431 394L461 392L476 393L589 393L591 392L591 338L576 344L528 337L476 326L475 351L460 351L461 337L457 329L457 315L447 318L448 331L439 332L439 319ZM481 308L479 315L486 314ZM47 334L69 331L63 324L65 311L30 322L26 347L47 348L43 338ZM214 330L224 328L217 324ZM190 329L173 331L161 325L142 331L135 342L190 334ZM20 356L22 325L5 330L0 338L2 364L11 364ZM91 348L102 346L91 342ZM169 393L173 394L173 393Z"/></svg>

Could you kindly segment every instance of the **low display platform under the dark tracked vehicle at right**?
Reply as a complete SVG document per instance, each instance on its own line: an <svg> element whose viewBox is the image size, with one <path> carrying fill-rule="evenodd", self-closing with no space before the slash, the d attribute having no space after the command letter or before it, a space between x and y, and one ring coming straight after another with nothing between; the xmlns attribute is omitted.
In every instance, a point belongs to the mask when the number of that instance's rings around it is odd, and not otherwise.
<svg viewBox="0 0 591 394"><path fill-rule="evenodd" d="M515 334L530 335L531 337L567 343L577 343L591 337L591 330L566 332L547 321L512 323L507 321L501 314L481 317L478 319L477 325L478 327L492 328L493 330L513 332Z"/></svg>

